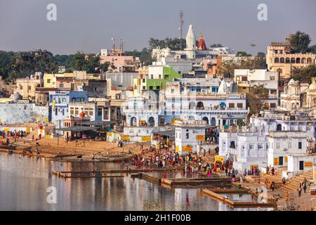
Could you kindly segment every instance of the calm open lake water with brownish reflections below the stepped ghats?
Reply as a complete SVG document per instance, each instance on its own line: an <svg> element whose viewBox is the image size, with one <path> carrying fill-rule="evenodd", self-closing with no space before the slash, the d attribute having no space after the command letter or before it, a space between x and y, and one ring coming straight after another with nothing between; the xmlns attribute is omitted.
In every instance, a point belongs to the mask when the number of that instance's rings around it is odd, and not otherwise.
<svg viewBox="0 0 316 225"><path fill-rule="evenodd" d="M194 188L164 188L130 176L60 179L51 174L53 170L122 167L117 163L52 162L0 153L0 210L232 210ZM57 188L57 204L46 202L48 186Z"/></svg>

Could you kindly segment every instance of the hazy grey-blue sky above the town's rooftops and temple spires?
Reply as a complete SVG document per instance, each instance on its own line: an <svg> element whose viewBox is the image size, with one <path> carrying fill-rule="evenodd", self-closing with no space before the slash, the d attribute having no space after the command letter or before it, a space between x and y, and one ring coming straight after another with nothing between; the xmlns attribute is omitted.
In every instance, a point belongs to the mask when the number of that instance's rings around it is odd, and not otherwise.
<svg viewBox="0 0 316 225"><path fill-rule="evenodd" d="M48 4L56 4L57 21L48 21ZM257 19L258 4L267 4L268 21ZM53 53L99 52L111 38L124 38L124 50L141 50L148 39L184 37L190 23L204 34L206 45L223 44L236 51L266 51L301 30L316 44L315 0L0 0L0 50L47 49Z"/></svg>

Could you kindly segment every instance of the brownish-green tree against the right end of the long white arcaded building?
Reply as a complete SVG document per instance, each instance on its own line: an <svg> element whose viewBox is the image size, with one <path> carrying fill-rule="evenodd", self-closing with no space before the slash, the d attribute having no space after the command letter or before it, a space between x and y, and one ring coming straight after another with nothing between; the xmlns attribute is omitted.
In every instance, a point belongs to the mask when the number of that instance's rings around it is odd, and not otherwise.
<svg viewBox="0 0 316 225"><path fill-rule="evenodd" d="M264 85L255 85L251 87L249 93L247 93L247 100L250 107L250 115L258 115L263 108L263 102L268 98L268 89L265 89Z"/></svg>

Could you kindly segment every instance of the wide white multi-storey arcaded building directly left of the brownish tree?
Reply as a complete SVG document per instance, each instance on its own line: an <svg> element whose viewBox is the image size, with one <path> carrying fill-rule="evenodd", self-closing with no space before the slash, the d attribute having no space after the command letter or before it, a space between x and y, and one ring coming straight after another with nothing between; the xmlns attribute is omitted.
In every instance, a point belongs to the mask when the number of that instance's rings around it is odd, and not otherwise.
<svg viewBox="0 0 316 225"><path fill-rule="evenodd" d="M205 120L212 126L220 127L246 119L246 94L230 94L225 82L218 88L217 84L210 83L206 87L205 84L206 79L195 86L189 82L167 82L164 120L169 123L173 119Z"/></svg>

